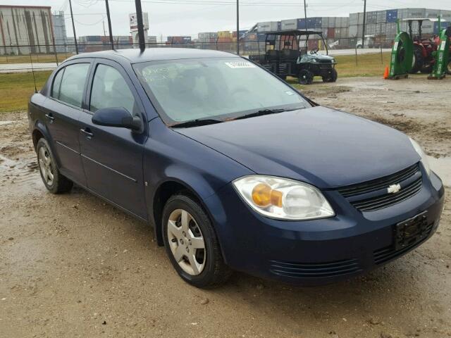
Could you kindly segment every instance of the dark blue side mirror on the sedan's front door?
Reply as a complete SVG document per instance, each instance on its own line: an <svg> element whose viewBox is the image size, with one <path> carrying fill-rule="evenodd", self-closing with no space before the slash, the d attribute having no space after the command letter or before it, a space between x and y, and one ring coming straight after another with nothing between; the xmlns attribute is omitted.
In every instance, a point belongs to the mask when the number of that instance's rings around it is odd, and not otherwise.
<svg viewBox="0 0 451 338"><path fill-rule="evenodd" d="M138 116L133 117L125 108L101 108L92 116L92 123L131 130L142 129L142 120Z"/></svg>

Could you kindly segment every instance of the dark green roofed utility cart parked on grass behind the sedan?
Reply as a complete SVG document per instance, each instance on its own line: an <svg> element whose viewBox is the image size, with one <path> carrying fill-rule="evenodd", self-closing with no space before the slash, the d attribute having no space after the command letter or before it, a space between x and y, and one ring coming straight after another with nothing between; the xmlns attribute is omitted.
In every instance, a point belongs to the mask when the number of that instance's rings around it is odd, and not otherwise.
<svg viewBox="0 0 451 338"><path fill-rule="evenodd" d="M309 37L317 35L326 48L326 55L318 54L318 39ZM304 38L302 38L304 37ZM309 46L311 50L309 51ZM327 44L321 32L310 30L281 30L267 32L265 54L249 56L267 70L285 80L287 76L297 77L300 84L311 84L314 76L321 76L324 82L335 82L337 70L335 59L328 56Z"/></svg>

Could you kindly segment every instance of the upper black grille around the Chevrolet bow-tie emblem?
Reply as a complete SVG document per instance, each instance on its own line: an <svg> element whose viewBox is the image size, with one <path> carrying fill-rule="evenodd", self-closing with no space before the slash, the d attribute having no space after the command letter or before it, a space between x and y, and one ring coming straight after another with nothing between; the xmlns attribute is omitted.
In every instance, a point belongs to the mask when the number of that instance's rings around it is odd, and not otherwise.
<svg viewBox="0 0 451 338"><path fill-rule="evenodd" d="M397 193L388 193L388 187L400 184ZM418 163L393 175L338 189L359 211L376 211L400 203L421 190L422 179Z"/></svg>

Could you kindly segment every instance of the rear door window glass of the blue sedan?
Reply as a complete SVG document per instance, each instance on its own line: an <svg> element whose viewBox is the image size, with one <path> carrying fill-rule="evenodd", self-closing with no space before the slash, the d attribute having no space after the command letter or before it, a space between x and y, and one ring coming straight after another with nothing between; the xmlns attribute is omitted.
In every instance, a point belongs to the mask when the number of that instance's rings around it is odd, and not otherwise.
<svg viewBox="0 0 451 338"><path fill-rule="evenodd" d="M65 68L59 90L61 101L81 108L88 70L89 63L75 63Z"/></svg>

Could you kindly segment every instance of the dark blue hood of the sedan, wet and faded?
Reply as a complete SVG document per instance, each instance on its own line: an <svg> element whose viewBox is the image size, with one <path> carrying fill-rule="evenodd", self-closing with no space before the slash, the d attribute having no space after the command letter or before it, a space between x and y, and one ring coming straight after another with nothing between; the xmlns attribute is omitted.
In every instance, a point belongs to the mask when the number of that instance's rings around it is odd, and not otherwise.
<svg viewBox="0 0 451 338"><path fill-rule="evenodd" d="M420 160L402 132L322 106L175 130L257 174L324 189L390 175Z"/></svg>

